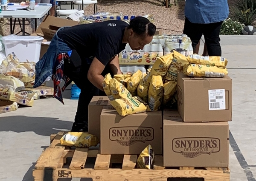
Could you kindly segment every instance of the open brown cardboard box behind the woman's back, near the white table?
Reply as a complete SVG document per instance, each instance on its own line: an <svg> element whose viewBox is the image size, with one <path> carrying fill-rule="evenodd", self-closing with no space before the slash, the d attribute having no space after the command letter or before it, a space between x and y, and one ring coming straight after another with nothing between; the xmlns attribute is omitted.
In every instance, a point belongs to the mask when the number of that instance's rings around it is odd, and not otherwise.
<svg viewBox="0 0 256 181"><path fill-rule="evenodd" d="M32 36L41 36L44 37L45 40L52 40L53 35L56 31L64 26L74 26L78 25L78 21L66 20L59 17L52 17L47 15L43 22L39 25L38 29L35 31L35 34L31 34Z"/></svg>

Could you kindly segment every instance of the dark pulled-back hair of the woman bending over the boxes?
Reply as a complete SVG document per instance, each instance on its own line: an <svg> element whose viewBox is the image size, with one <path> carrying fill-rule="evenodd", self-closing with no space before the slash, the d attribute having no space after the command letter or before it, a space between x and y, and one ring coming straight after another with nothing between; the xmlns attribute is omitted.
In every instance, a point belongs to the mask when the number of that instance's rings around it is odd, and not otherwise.
<svg viewBox="0 0 256 181"><path fill-rule="evenodd" d="M156 26L145 17L135 17L130 21L128 29L132 29L138 36L154 36Z"/></svg>

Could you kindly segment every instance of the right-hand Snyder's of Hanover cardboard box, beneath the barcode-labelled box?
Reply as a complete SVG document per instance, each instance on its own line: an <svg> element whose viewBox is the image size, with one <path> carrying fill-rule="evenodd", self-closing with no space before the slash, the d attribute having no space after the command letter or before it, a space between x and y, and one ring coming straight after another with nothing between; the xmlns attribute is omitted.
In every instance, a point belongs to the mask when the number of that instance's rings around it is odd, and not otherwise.
<svg viewBox="0 0 256 181"><path fill-rule="evenodd" d="M228 167L227 122L183 122L177 111L163 111L165 167Z"/></svg>

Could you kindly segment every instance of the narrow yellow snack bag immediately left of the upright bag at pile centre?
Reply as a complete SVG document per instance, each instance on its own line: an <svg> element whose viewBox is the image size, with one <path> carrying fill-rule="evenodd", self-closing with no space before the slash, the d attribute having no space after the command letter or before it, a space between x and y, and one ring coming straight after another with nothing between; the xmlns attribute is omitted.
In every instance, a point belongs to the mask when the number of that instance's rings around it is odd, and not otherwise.
<svg viewBox="0 0 256 181"><path fill-rule="evenodd" d="M150 83L147 82L147 79L149 77L149 74L144 76L143 79L140 80L140 83L137 88L137 95L144 101L148 102L148 88Z"/></svg>

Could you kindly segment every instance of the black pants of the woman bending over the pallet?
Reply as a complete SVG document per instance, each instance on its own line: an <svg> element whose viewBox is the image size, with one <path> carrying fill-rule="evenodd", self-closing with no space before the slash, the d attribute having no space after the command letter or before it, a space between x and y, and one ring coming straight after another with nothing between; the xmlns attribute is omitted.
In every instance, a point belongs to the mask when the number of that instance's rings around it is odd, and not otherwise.
<svg viewBox="0 0 256 181"><path fill-rule="evenodd" d="M70 59L70 62L72 62L72 59ZM100 91L88 80L87 73L90 65L84 62L82 61L79 67L74 68L68 61L64 61L63 73L81 89L74 123L77 127L88 126L88 105L93 96L105 96L105 92ZM105 76L108 73L110 73L110 68L107 65L102 75Z"/></svg>

